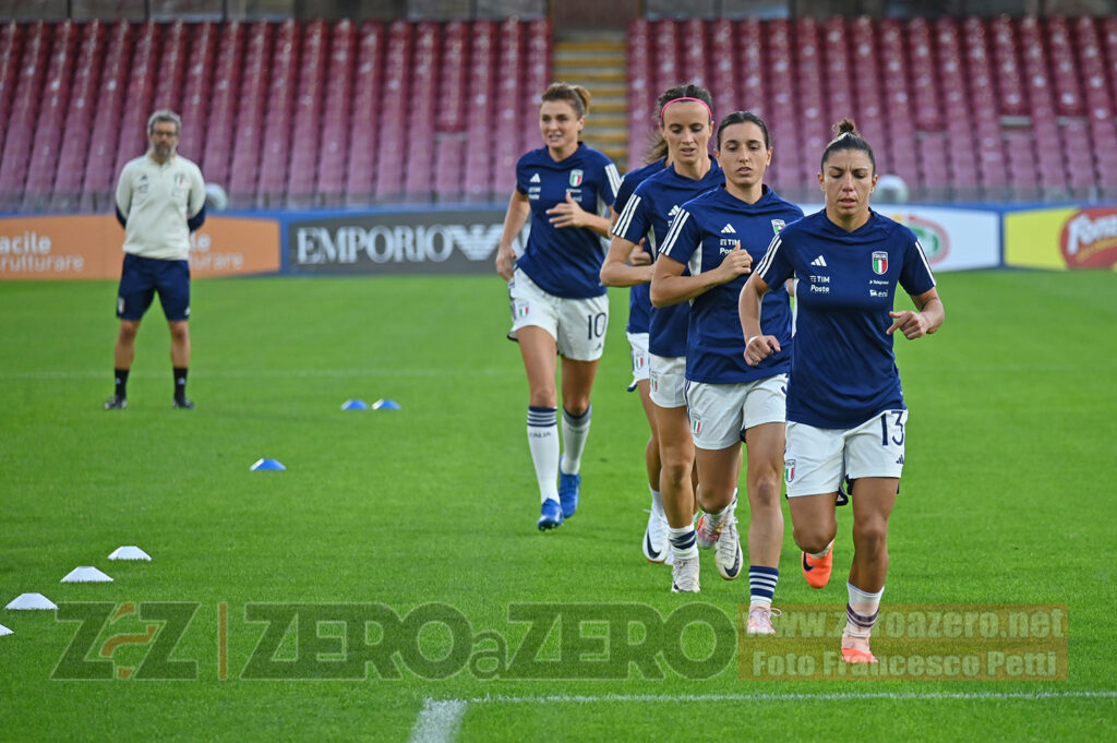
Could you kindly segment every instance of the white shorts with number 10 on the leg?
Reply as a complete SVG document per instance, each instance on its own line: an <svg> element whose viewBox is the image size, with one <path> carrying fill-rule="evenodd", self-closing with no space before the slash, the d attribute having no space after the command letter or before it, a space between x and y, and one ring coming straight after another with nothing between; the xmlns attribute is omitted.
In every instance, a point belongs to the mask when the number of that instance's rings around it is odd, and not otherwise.
<svg viewBox="0 0 1117 743"><path fill-rule="evenodd" d="M558 353L574 361L596 361L605 347L609 327L609 295L588 299L556 297L540 288L527 274L516 269L508 282L512 302L512 332L528 325L542 327L555 340Z"/></svg>

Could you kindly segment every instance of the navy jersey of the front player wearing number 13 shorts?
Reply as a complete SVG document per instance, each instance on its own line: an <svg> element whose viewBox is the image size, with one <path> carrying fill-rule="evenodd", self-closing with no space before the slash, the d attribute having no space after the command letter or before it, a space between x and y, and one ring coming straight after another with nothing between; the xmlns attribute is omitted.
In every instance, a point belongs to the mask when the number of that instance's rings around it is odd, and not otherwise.
<svg viewBox="0 0 1117 743"><path fill-rule="evenodd" d="M756 273L768 286L795 277L789 421L846 429L905 408L888 313L897 283L911 295L935 286L911 230L870 211L847 232L820 211L776 236Z"/></svg>

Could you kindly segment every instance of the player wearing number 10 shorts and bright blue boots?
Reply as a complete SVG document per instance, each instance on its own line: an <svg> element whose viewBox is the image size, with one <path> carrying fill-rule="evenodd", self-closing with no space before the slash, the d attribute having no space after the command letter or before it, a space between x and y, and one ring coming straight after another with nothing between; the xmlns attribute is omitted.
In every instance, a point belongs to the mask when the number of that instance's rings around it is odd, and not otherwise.
<svg viewBox="0 0 1117 743"><path fill-rule="evenodd" d="M585 88L554 83L544 92L544 146L516 163L496 256L496 270L508 282L512 334L527 370L527 445L542 499L540 530L560 526L577 508L590 392L609 325L609 297L598 270L610 220L600 215L612 204L620 174L609 158L579 140L589 107ZM517 259L513 241L528 217L532 231ZM562 355L561 463L556 353Z"/></svg>

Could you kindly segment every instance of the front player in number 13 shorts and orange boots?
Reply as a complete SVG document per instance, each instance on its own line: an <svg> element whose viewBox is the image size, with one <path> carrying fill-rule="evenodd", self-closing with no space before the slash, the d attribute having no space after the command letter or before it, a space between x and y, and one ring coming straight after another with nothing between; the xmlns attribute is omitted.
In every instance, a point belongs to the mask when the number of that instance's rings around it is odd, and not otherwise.
<svg viewBox="0 0 1117 743"><path fill-rule="evenodd" d="M793 534L808 583L822 588L833 564L834 505L849 480L853 562L841 650L848 663L876 663L869 634L888 573L888 516L904 469L908 417L892 334L914 340L934 333L944 311L915 234L869 208L877 184L872 147L848 118L834 128L819 173L825 209L772 240L741 292L741 325L751 365L779 353L780 339L761 330L761 297L794 277L784 461ZM897 283L916 312L892 309Z"/></svg>

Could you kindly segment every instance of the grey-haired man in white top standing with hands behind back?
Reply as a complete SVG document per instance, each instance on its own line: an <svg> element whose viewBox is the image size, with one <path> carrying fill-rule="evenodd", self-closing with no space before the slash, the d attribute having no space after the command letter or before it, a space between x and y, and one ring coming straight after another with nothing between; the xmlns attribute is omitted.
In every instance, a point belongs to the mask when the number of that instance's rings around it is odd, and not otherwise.
<svg viewBox="0 0 1117 743"><path fill-rule="evenodd" d="M206 182L198 165L175 154L182 120L156 111L147 120L151 147L124 165L116 184L116 218L124 227L124 267L116 298L121 333L116 337L116 391L105 410L127 407L128 371L135 356L140 321L159 292L171 328L174 407L187 399L190 366L190 232L206 220Z"/></svg>

